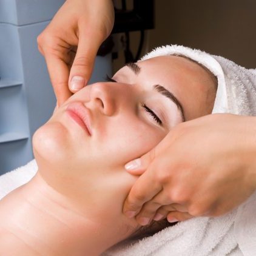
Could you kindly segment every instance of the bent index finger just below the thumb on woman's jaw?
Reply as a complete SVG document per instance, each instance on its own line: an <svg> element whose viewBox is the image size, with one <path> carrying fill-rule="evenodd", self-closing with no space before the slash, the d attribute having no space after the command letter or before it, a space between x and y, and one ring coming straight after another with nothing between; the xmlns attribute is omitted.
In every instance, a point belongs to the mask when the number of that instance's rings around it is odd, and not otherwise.
<svg viewBox="0 0 256 256"><path fill-rule="evenodd" d="M161 191L161 184L155 182L155 175L149 169L136 180L126 201L124 202L123 212L127 217L134 217L140 212L144 203L151 200Z"/></svg>

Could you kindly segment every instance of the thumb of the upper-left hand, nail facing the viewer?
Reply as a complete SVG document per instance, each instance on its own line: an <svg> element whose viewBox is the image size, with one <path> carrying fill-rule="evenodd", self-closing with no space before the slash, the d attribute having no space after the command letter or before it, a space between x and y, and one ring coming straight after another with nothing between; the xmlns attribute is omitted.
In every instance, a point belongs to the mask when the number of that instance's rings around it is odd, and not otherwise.
<svg viewBox="0 0 256 256"><path fill-rule="evenodd" d="M95 36L79 32L78 49L69 75L69 89L72 92L81 90L88 83L92 75L96 54L101 42L95 42ZM82 33L83 32L83 33Z"/></svg>

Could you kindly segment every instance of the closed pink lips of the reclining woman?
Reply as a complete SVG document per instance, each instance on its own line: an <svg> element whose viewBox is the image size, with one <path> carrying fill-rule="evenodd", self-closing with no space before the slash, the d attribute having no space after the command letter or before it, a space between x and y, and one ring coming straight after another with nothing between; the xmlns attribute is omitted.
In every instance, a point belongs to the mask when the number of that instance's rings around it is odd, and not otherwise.
<svg viewBox="0 0 256 256"><path fill-rule="evenodd" d="M66 112L73 121L86 131L87 135L92 136L90 112L83 103L79 101L70 103L69 106L67 106Z"/></svg>

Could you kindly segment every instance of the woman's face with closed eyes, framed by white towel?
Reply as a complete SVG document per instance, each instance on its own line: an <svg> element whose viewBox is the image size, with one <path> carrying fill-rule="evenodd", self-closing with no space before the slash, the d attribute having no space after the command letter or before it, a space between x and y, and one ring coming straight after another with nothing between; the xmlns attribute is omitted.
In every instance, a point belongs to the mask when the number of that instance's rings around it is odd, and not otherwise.
<svg viewBox="0 0 256 256"><path fill-rule="evenodd" d="M86 86L59 107L33 137L35 156L72 172L120 170L214 106L209 74L179 56L129 64L113 79Z"/></svg>

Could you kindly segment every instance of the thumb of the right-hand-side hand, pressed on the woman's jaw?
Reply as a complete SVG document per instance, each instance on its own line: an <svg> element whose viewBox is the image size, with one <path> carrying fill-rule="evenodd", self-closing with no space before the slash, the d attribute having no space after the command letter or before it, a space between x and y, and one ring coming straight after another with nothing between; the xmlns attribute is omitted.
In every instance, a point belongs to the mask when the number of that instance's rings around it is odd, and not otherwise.
<svg viewBox="0 0 256 256"><path fill-rule="evenodd" d="M124 168L132 175L141 175L145 172L149 164L155 158L155 148L147 152L140 158L136 158L135 160L130 161L127 163Z"/></svg>

